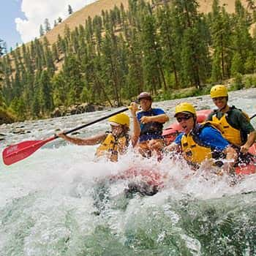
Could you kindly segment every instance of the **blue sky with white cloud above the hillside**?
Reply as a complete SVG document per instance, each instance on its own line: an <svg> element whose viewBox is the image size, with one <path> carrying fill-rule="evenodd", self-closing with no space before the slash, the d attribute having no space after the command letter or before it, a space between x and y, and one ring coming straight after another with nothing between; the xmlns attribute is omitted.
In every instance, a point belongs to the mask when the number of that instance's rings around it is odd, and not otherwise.
<svg viewBox="0 0 256 256"><path fill-rule="evenodd" d="M67 18L68 5L73 12L96 0L0 0L0 39L7 43L7 50L23 42L39 37L39 27L48 18L53 27L54 20Z"/></svg>

